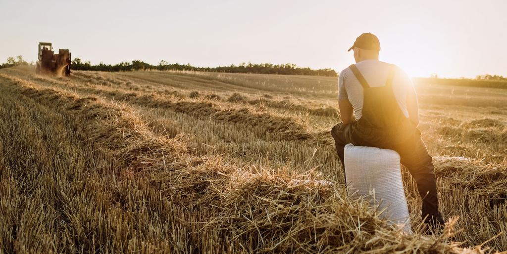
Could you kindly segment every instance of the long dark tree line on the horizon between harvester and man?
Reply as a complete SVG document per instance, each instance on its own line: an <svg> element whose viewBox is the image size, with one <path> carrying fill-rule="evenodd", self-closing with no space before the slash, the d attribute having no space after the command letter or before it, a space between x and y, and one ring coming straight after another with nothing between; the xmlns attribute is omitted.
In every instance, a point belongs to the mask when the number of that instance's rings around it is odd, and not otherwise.
<svg viewBox="0 0 507 254"><path fill-rule="evenodd" d="M121 62L119 64L103 64L92 65L89 61L83 62L79 58L72 61L71 69L74 70L92 70L92 71L133 71L133 70L184 70L184 71L209 71L209 72L229 72L229 73L257 73L257 74L282 74L282 75L317 75L336 77L333 69L310 69L301 68L296 64L252 64L240 63L239 65L231 64L230 66L219 67L196 67L190 64L168 63L165 60L159 62L158 65L151 65L140 60L132 62Z"/></svg>

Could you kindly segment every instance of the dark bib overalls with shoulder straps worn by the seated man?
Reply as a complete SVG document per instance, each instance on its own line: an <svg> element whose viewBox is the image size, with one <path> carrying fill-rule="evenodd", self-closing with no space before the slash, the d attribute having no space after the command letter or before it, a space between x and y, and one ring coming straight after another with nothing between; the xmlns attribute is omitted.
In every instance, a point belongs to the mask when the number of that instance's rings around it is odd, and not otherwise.
<svg viewBox="0 0 507 254"><path fill-rule="evenodd" d="M348 124L340 122L331 131L342 165L344 166L344 147L349 143L396 151L400 154L401 163L408 168L417 183L422 198L424 222L434 223L433 225L443 224L431 156L421 140L421 132L403 114L394 97L392 80L395 66L391 65L383 87L370 87L354 64L349 68L363 86L364 104L363 115L359 120Z"/></svg>

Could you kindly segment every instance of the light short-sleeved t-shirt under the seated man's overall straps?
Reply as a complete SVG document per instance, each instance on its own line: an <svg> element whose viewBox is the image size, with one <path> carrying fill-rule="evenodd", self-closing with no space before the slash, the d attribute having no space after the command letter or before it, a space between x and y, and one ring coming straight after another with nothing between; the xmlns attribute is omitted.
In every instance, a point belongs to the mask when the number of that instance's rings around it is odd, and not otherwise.
<svg viewBox="0 0 507 254"><path fill-rule="evenodd" d="M378 60L364 60L355 64L359 72L363 74L370 87L383 87L387 81L390 64ZM407 110L407 96L414 91L414 84L410 77L401 68L395 68L392 80L392 90L400 109L409 117ZM338 100L348 100L354 108L355 119L359 120L363 110L363 86L350 68L340 72L338 76Z"/></svg>

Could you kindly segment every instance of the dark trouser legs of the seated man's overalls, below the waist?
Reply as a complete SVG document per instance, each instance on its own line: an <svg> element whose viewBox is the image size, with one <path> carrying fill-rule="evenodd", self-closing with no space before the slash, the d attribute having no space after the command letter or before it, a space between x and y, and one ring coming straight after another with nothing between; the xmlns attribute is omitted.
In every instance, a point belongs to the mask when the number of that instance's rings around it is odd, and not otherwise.
<svg viewBox="0 0 507 254"><path fill-rule="evenodd" d="M336 152L344 164L344 147L346 144L356 146L372 146L383 149L391 149L400 154L401 163L406 166L417 183L419 195L422 198L422 218L426 223L435 222L443 224L444 220L439 212L439 200L437 196L437 181L431 156L426 145L418 135L401 144L371 144L354 134L354 124L339 123L333 127L331 136L335 139Z"/></svg>

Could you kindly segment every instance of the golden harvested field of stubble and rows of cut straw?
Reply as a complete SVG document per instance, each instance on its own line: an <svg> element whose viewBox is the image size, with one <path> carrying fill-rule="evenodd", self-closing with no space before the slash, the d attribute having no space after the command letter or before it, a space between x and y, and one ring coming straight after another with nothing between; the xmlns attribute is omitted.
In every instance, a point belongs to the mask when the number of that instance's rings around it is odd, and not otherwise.
<svg viewBox="0 0 507 254"><path fill-rule="evenodd" d="M0 252L507 250L507 89L417 84L454 219L407 236L346 197L329 135L336 81L0 70ZM421 201L404 178L417 232Z"/></svg>

